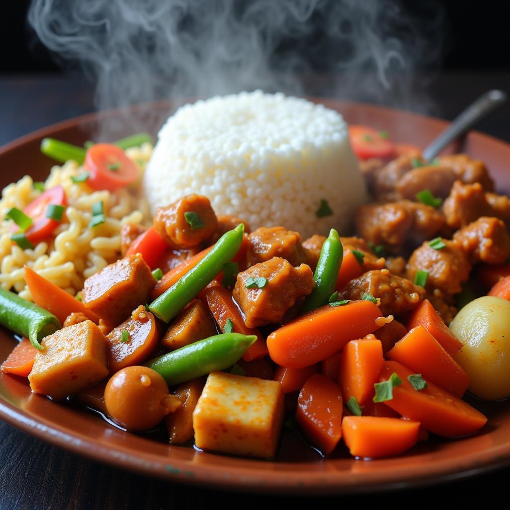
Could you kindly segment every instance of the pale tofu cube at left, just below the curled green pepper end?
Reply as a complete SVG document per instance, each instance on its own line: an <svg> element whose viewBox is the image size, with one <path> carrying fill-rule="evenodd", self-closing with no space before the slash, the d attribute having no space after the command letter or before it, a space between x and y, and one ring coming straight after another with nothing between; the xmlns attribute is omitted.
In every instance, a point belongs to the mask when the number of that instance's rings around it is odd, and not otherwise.
<svg viewBox="0 0 510 510"><path fill-rule="evenodd" d="M56 400L73 395L109 374L106 339L90 320L45 337L30 372L30 387Z"/></svg>

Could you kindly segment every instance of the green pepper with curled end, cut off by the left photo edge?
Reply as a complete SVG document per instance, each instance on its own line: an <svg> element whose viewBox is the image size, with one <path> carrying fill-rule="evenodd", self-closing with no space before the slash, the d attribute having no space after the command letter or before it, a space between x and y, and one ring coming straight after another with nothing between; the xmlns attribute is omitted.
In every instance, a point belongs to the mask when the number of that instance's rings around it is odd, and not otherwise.
<svg viewBox="0 0 510 510"><path fill-rule="evenodd" d="M14 333L28 337L30 343L39 350L44 349L39 340L60 329L60 322L55 315L1 288L0 324Z"/></svg>

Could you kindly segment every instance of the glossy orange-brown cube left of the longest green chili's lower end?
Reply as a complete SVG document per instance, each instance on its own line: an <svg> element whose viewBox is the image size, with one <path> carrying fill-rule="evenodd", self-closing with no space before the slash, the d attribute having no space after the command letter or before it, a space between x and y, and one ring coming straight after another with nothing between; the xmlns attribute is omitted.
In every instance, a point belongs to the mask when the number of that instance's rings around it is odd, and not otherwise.
<svg viewBox="0 0 510 510"><path fill-rule="evenodd" d="M85 280L83 303L100 319L117 325L146 303L154 276L140 253L120 259Z"/></svg>

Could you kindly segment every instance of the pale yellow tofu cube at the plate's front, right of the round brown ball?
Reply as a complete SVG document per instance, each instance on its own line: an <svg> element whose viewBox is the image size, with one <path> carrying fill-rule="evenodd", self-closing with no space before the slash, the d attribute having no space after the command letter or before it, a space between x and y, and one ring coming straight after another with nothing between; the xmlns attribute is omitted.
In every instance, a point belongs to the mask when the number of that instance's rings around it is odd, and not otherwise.
<svg viewBox="0 0 510 510"><path fill-rule="evenodd" d="M193 412L195 444L205 450L274 457L283 418L279 382L212 372Z"/></svg>

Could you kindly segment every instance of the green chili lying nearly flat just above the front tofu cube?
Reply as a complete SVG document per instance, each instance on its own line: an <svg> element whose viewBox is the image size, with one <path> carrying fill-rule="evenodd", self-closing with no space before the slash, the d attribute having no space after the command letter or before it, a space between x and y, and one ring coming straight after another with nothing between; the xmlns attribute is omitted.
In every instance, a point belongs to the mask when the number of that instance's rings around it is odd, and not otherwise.
<svg viewBox="0 0 510 510"><path fill-rule="evenodd" d="M156 370L168 386L174 386L234 365L256 340L254 335L223 333L185 345L145 366Z"/></svg>

